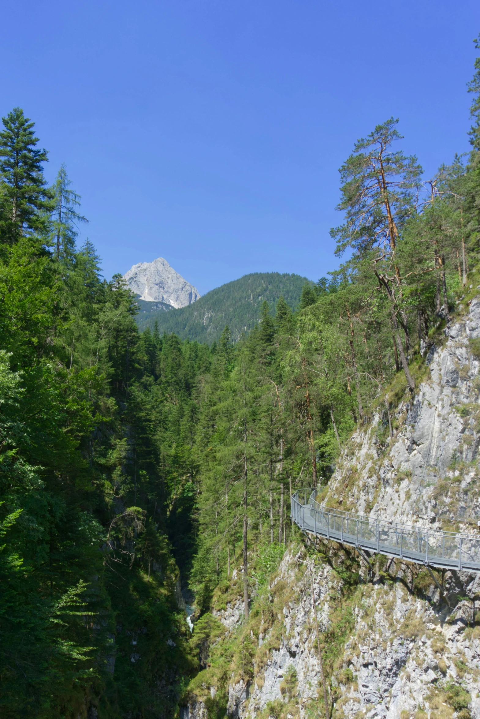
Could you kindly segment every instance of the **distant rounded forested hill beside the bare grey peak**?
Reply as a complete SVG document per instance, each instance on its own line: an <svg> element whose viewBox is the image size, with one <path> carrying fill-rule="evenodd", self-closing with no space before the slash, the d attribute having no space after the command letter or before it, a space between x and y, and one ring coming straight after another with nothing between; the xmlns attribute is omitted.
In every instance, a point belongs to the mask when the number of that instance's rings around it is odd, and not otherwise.
<svg viewBox="0 0 480 719"><path fill-rule="evenodd" d="M175 332L182 339L188 337L208 344L218 342L223 328L228 325L231 338L237 342L242 332L250 331L259 321L262 302L267 301L274 308L283 296L290 307L297 308L303 285L308 282L300 275L251 273L221 285L195 303L177 310L158 311L154 307L157 303L140 301L137 323L139 329L153 329L156 321L160 334ZM149 304L152 304L150 312Z"/></svg>

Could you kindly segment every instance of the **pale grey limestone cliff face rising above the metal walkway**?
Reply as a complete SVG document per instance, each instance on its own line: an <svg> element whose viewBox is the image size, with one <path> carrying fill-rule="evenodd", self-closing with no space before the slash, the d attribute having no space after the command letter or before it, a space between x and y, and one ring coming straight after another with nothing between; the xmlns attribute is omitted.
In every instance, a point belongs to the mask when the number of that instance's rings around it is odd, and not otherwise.
<svg viewBox="0 0 480 719"><path fill-rule="evenodd" d="M397 408L394 436L385 441L385 413L359 429L321 503L438 528L447 521L460 521L464 531L476 527L480 362L469 340L480 337L479 298L445 334L443 346L428 352L428 374L417 394Z"/></svg>

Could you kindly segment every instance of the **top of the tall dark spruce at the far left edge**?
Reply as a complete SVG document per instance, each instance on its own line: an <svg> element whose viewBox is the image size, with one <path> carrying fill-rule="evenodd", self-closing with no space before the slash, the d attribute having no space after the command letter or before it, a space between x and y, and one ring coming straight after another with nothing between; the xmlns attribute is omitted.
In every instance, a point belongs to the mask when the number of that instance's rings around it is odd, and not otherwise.
<svg viewBox="0 0 480 719"><path fill-rule="evenodd" d="M0 240L12 244L25 232L45 235L52 192L43 177L46 150L37 147L34 122L15 107L0 132Z"/></svg>

